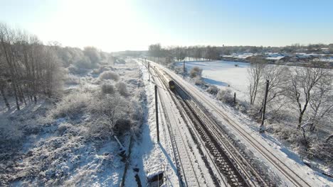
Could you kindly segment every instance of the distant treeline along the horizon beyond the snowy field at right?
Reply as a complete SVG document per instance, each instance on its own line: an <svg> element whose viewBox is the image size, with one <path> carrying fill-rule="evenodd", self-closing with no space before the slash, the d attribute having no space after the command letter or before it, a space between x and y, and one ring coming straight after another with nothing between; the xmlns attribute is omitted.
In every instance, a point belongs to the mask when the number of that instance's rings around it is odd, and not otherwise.
<svg viewBox="0 0 333 187"><path fill-rule="evenodd" d="M220 55L231 55L233 53L263 53L263 52L326 52L333 53L333 44L293 44L285 47L263 47L263 46L211 46L196 45L189 47L162 47L159 43L149 45L148 55L150 57L165 57L176 60L184 60L185 57L191 57L195 60L218 60Z"/></svg>

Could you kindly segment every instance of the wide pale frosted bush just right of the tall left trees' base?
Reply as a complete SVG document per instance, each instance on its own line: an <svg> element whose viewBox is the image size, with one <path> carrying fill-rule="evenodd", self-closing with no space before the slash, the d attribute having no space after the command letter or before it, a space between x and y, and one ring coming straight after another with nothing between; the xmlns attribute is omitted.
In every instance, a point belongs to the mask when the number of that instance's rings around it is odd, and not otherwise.
<svg viewBox="0 0 333 187"><path fill-rule="evenodd" d="M53 118L70 117L74 118L76 115L82 115L84 109L89 106L93 100L93 96L88 92L81 92L80 94L69 94L57 103L56 108L50 111Z"/></svg>

